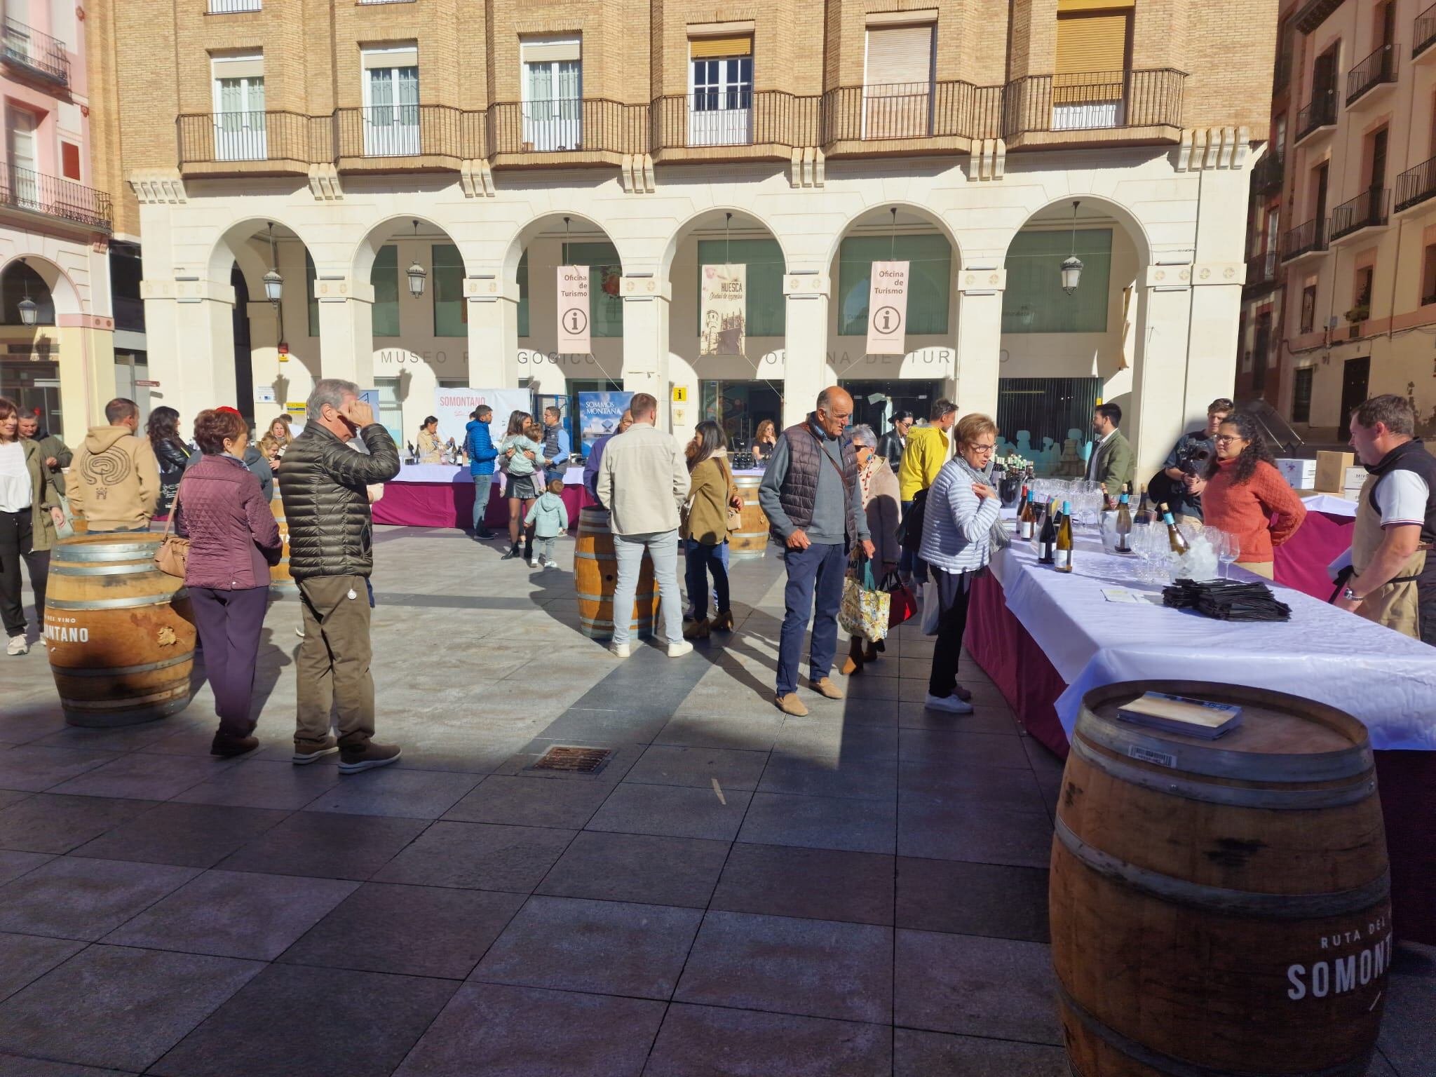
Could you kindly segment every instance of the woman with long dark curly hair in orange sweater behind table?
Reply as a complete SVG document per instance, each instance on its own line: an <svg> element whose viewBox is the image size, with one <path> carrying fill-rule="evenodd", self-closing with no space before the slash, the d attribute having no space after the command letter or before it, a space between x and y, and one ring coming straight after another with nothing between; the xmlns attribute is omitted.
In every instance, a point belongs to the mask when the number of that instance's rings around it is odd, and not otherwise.
<svg viewBox="0 0 1436 1077"><path fill-rule="evenodd" d="M1242 543L1236 563L1272 579L1272 550L1295 534L1307 507L1272 460L1261 426L1235 412L1216 431L1216 455L1206 468L1202 520Z"/></svg>

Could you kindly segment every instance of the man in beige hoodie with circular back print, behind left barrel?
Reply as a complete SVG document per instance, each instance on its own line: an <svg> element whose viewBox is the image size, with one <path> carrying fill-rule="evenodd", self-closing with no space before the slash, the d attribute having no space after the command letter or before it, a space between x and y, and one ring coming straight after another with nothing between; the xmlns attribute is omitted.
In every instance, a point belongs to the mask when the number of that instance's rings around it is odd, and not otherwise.
<svg viewBox="0 0 1436 1077"><path fill-rule="evenodd" d="M96 531L146 531L159 500L159 464L136 438L139 406L118 396L105 405L108 426L90 426L70 464L70 510Z"/></svg>

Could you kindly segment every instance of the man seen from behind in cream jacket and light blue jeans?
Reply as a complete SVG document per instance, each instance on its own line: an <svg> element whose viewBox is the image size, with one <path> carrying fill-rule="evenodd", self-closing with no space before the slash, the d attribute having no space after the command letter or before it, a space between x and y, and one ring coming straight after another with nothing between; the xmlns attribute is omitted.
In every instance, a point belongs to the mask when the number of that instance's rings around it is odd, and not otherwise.
<svg viewBox="0 0 1436 1077"><path fill-rule="evenodd" d="M610 649L617 658L629 656L629 620L646 550L653 560L668 656L681 658L694 649L684 639L678 595L678 511L688 500L688 462L678 438L655 428L656 399L646 392L635 393L629 412L633 425L605 448L596 484L599 503L609 508L619 569Z"/></svg>

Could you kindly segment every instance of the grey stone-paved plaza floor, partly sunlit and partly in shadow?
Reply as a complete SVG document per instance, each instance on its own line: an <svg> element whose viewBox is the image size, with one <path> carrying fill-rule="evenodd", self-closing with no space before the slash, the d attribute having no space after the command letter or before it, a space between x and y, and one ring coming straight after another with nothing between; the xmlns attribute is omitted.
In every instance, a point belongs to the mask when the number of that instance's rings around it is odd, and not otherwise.
<svg viewBox="0 0 1436 1077"><path fill-rule="evenodd" d="M976 714L925 712L905 628L784 719L775 559L735 564L732 636L619 663L567 570L498 553L381 528L383 771L289 763L293 599L240 761L208 688L86 731L42 649L3 659L0 1077L1066 1074L1061 765L975 668ZM613 755L541 777L551 744ZM1370 1073L1436 1073L1436 952L1386 1007Z"/></svg>

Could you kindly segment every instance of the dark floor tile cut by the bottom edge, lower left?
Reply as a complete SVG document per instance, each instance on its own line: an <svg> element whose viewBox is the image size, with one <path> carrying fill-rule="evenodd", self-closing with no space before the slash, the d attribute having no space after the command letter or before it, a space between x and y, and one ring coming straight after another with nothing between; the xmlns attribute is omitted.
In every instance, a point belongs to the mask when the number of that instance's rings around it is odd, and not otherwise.
<svg viewBox="0 0 1436 1077"><path fill-rule="evenodd" d="M149 1073L389 1077L455 988L451 979L270 965Z"/></svg>

